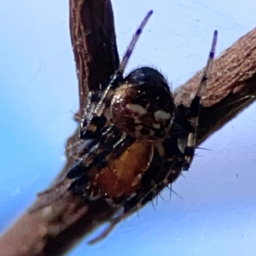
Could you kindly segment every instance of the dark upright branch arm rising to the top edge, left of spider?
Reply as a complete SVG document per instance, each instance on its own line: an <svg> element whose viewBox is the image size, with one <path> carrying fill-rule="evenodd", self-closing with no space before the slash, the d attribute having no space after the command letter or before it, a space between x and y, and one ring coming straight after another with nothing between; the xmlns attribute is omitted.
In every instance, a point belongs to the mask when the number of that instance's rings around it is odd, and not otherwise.
<svg viewBox="0 0 256 256"><path fill-rule="evenodd" d="M104 86L119 65L110 1L70 0L70 33L82 113L88 92Z"/></svg>

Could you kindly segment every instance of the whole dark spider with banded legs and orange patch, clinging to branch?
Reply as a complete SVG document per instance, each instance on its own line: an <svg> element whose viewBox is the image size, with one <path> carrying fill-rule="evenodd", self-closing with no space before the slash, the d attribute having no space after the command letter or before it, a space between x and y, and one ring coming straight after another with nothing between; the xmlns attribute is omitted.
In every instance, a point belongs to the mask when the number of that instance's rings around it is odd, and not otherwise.
<svg viewBox="0 0 256 256"><path fill-rule="evenodd" d="M152 14L149 11L143 19L119 67L103 84L104 90L89 92L81 116L79 138L85 143L79 148L79 162L67 172L71 179L68 189L87 201L104 198L123 207L108 230L92 242L152 201L189 169L195 154L201 95L211 71L218 32L213 34L207 67L183 119L160 72L140 67L124 78L126 64Z"/></svg>

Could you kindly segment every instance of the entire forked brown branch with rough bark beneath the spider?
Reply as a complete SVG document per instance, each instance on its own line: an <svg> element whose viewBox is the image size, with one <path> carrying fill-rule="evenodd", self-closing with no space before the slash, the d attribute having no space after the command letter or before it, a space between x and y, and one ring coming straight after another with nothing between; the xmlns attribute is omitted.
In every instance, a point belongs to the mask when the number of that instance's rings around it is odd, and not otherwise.
<svg viewBox="0 0 256 256"><path fill-rule="evenodd" d="M83 113L89 90L97 90L118 66L113 13L108 0L70 0L70 26L78 69L80 109ZM201 102L197 145L234 118L256 94L256 29L240 38L213 62L212 73ZM102 75L99 75L102 74ZM201 79L201 72L174 93L182 119ZM60 255L98 225L113 217L118 209L103 200L88 204L57 184L73 166L82 143L79 128L67 140L67 164L55 179L49 193L38 197L32 212L25 212L0 240L1 255ZM66 190L65 190L66 189Z"/></svg>

